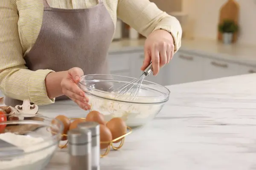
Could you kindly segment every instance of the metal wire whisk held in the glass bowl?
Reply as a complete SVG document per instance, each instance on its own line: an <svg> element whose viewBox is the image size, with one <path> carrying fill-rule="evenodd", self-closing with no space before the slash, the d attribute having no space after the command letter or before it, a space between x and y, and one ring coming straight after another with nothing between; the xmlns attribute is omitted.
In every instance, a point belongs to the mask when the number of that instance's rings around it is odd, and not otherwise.
<svg viewBox="0 0 256 170"><path fill-rule="evenodd" d="M143 71L143 74L139 78L134 79L133 81L120 86L116 90L116 93L117 94L125 95L125 94L127 94L133 88L132 91L131 91L130 96L138 96L139 93L140 93L140 87L141 87L141 84L143 82L143 79L145 77L147 77L149 74L151 74L152 71L153 71L152 62L150 62L148 67L145 68L145 70Z"/></svg>

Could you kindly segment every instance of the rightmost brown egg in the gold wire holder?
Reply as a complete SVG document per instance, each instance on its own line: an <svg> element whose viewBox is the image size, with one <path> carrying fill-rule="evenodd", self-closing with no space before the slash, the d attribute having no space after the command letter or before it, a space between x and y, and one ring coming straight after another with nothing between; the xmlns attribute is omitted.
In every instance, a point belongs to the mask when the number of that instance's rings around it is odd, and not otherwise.
<svg viewBox="0 0 256 170"><path fill-rule="evenodd" d="M109 128L109 130L111 131L113 140L125 135L127 132L127 126L125 121L123 121L122 118L119 117L115 117L113 119L111 119L108 123L107 123L107 127ZM114 143L120 142L122 139L117 140Z"/></svg>

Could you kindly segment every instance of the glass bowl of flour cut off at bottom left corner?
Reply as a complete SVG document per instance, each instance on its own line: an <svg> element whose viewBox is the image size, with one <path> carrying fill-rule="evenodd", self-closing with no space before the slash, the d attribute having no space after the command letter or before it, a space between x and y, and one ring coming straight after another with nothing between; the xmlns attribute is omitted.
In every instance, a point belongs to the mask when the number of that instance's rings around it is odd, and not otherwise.
<svg viewBox="0 0 256 170"><path fill-rule="evenodd" d="M0 114L0 120L4 116L8 115ZM52 120L36 115L24 120L0 121L0 139L23 150L16 152L16 147L3 147L0 142L0 170L44 169L58 148L63 131L63 124Z"/></svg>

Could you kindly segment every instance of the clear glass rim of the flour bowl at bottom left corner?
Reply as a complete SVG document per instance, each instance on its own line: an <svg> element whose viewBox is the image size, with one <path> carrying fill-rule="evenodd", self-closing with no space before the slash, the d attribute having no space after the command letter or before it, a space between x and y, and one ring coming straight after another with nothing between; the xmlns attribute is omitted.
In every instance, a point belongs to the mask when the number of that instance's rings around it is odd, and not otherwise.
<svg viewBox="0 0 256 170"><path fill-rule="evenodd" d="M8 106L7 106L8 107ZM3 114L5 116L8 116L8 114ZM22 114L22 115L26 115L26 114ZM43 118L43 119L47 119L49 120L50 122L52 122L52 120L55 120L56 122L58 122L58 124L60 125L60 132L56 133L55 135L53 136L49 136L47 138L44 138L45 140L42 141L42 142L38 142L38 143L35 143L33 144L33 147L34 146L37 146L37 145L40 145L40 144L43 144L45 142L49 142L50 139L55 139L57 138L59 135L61 135L63 129L64 129L64 125L62 124L62 122L58 119L55 119L55 118L49 118L47 116L43 116L43 115L35 115L34 117L38 117L38 118ZM36 125L45 125L45 126L49 126L49 124L47 123L44 123L42 121L38 121L38 120L16 120L16 121L3 121L3 122L0 122L0 125L2 124L6 124L6 125L12 125L12 124L17 124L17 122L22 122L23 124L26 124L26 123L33 123L33 124L36 124ZM52 147L56 144L58 144L58 140L56 140L56 142L50 142L49 145L45 146L45 147L41 147L37 150L33 150L33 151L30 151L30 152L24 152L24 153L19 153L19 154L10 154L10 155L7 155L6 157L16 157L16 156L25 156L25 155L28 155L28 154L32 154L32 153L36 153L36 152L39 152L41 150L44 150L44 149L47 149L49 147ZM1 148L0 150L12 150L12 149L15 149L16 147L5 147L5 148ZM5 157L5 158L6 158ZM0 160L2 159L3 157L0 157Z"/></svg>

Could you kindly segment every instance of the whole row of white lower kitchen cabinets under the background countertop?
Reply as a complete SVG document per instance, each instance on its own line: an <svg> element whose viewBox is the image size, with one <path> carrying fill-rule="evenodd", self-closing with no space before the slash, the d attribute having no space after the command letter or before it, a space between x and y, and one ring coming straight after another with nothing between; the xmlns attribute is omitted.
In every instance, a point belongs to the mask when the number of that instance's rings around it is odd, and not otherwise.
<svg viewBox="0 0 256 170"><path fill-rule="evenodd" d="M140 67L143 59L143 49L111 53L108 58L111 74L137 78L142 74ZM249 73L256 73L256 66L183 50L178 51L156 77L150 74L145 80L160 85L174 85Z"/></svg>

